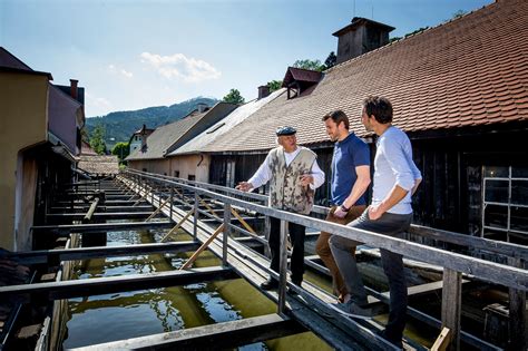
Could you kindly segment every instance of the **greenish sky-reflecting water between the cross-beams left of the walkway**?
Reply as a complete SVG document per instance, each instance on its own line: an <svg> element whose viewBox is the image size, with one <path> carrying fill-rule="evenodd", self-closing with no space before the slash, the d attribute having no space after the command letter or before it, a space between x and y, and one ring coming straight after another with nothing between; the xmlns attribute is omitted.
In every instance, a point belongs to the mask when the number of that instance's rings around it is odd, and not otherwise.
<svg viewBox="0 0 528 351"><path fill-rule="evenodd" d="M108 246L159 242L164 231L108 233ZM176 241L190 236L180 232ZM166 253L87 260L74 279L119 276L179 269L192 253ZM195 266L216 266L219 260L204 252ZM124 340L185 328L234 321L276 312L276 305L242 279L188 284L69 300L68 337L63 348ZM327 345L312 333L258 342L241 350L305 349Z"/></svg>

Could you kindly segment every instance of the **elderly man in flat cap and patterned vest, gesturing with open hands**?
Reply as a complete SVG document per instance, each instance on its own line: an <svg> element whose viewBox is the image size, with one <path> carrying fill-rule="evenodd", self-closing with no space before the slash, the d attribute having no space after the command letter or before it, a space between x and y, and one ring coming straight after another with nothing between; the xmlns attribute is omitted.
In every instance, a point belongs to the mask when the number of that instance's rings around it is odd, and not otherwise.
<svg viewBox="0 0 528 351"><path fill-rule="evenodd" d="M236 188L243 192L255 189L270 182L270 206L289 212L310 214L313 207L315 189L324 183L324 173L317 165L316 155L306 147L297 146L296 130L293 127L276 129L278 147L272 149L264 163L247 182L241 182ZM281 221L270 217L271 269L278 273ZM304 273L303 225L290 223L290 237L293 243L292 282L299 286ZM272 277L262 283L264 290L278 286Z"/></svg>

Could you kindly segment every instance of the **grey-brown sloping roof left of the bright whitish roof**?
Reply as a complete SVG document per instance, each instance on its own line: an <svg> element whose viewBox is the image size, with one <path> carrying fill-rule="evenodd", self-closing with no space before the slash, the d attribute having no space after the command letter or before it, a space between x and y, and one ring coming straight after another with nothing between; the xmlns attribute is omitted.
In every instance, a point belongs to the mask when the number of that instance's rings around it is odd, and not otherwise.
<svg viewBox="0 0 528 351"><path fill-rule="evenodd" d="M192 133L202 133L202 127L211 126L207 125L208 121L214 120L214 123L216 123L217 120L215 119L225 117L235 108L236 105L218 103L202 114L194 111L179 120L163 127L158 127L147 137L146 149L138 148L134 150L134 153L131 153L126 159L135 160L163 158L167 153L170 153L174 149L178 142L184 140L185 138L190 138Z"/></svg>

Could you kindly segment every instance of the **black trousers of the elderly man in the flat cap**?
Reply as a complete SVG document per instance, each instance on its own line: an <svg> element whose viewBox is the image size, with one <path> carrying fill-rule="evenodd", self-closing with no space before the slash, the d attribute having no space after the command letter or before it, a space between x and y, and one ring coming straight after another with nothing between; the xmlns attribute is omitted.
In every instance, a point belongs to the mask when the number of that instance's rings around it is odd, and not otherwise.
<svg viewBox="0 0 528 351"><path fill-rule="evenodd" d="M270 222L268 245L272 253L271 269L278 273L281 260L281 220L270 217ZM306 228L304 225L289 223L289 232L293 245L291 259L292 281L301 285L304 273L304 236Z"/></svg>

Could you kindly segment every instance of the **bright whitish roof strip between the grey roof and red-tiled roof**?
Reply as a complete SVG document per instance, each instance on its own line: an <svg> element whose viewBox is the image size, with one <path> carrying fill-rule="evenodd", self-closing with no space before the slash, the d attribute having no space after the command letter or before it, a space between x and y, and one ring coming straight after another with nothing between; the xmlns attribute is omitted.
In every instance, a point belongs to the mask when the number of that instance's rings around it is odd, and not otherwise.
<svg viewBox="0 0 528 351"><path fill-rule="evenodd" d="M187 144L183 145L182 147L177 148L170 156L175 155L184 155L184 154L195 154L199 152L208 152L214 149L214 140L218 138L221 135L229 131L231 128L236 126L237 124L242 123L244 119L250 117L252 114L257 111L264 105L268 104L270 101L274 100L278 96L281 96L286 89L282 88L276 91L273 91L270 96L262 98L260 100L250 101L229 115L227 115L224 119L219 120L211 128L198 135L197 137L193 138Z"/></svg>

